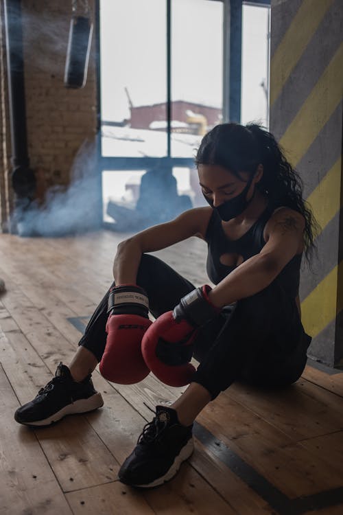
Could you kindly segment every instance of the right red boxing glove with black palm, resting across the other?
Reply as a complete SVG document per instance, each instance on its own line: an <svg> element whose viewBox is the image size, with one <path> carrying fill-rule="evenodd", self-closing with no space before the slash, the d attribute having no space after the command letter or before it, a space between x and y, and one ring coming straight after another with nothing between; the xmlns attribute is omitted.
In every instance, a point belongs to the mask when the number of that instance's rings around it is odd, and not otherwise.
<svg viewBox="0 0 343 515"><path fill-rule="evenodd" d="M197 328L220 312L209 301L210 286L196 288L173 311L161 314L145 332L142 354L153 374L166 385L188 385L196 369L189 363Z"/></svg>

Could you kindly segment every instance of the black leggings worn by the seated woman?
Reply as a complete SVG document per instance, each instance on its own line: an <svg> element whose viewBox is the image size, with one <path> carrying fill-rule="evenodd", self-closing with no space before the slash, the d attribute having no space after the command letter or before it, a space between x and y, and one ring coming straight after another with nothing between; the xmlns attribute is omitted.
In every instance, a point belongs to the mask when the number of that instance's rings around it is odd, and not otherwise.
<svg viewBox="0 0 343 515"><path fill-rule="evenodd" d="M172 310L196 288L163 261L143 254L137 284L147 293L155 318ZM108 292L88 322L79 345L101 360L106 345ZM200 365L193 377L214 399L235 380L282 387L298 380L311 338L300 322L296 302L283 288L270 286L228 306L198 331L193 356Z"/></svg>

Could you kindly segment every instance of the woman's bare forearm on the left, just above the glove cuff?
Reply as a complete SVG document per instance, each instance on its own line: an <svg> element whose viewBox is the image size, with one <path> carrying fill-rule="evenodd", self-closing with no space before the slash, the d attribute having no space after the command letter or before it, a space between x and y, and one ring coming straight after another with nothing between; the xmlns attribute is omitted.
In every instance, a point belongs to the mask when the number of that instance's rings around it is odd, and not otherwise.
<svg viewBox="0 0 343 515"><path fill-rule="evenodd" d="M113 263L115 284L136 284L142 251L137 240L130 238L119 243Z"/></svg>

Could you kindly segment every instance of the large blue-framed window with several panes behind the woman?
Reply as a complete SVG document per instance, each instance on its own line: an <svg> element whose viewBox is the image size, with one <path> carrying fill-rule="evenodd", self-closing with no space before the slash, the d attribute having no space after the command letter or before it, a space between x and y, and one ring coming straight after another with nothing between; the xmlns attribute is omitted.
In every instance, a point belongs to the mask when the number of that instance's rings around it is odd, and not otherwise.
<svg viewBox="0 0 343 515"><path fill-rule="evenodd" d="M99 0L104 222L136 230L140 223L161 222L204 204L193 157L202 135L230 119L233 92L227 78L233 80L235 73L227 70L235 48L241 119L268 123L268 9L251 3ZM234 44L229 33L236 37ZM164 194L152 187L158 184ZM137 212L145 205L140 196L151 204L155 219ZM161 205L155 206L159 197Z"/></svg>

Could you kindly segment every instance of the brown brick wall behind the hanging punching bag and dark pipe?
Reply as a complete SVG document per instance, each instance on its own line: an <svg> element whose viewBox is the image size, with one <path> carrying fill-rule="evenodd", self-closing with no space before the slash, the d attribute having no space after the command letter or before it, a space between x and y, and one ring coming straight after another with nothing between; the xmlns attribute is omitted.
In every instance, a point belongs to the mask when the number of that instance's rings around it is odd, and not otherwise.
<svg viewBox="0 0 343 515"><path fill-rule="evenodd" d="M94 20L94 3L89 1ZM37 194L68 185L75 155L96 133L95 32L83 89L64 87L71 0L23 0L23 49L28 154ZM1 117L1 137L3 131ZM1 159L3 161L3 159ZM2 174L3 176L3 170ZM3 188L3 181L0 183Z"/></svg>

